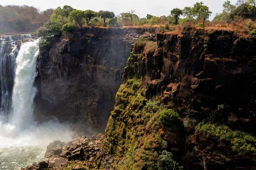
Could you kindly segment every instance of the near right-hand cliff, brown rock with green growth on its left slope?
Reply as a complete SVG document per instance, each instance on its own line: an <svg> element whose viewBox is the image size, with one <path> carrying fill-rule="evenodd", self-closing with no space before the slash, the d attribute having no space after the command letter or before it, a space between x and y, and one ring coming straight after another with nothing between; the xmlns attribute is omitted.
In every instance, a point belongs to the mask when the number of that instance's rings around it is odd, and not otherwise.
<svg viewBox="0 0 256 170"><path fill-rule="evenodd" d="M255 167L255 48L253 37L200 29L136 42L105 131L108 167Z"/></svg>

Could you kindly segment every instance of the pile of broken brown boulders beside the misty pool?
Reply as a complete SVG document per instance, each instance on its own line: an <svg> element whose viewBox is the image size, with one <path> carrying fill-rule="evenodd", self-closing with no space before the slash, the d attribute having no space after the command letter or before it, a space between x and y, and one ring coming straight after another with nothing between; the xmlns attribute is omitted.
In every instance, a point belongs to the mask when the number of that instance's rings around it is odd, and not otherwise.
<svg viewBox="0 0 256 170"><path fill-rule="evenodd" d="M64 143L56 140L47 146L46 161L34 162L31 166L21 170L80 170L95 167L94 160L101 155L104 135L78 137L73 142Z"/></svg>

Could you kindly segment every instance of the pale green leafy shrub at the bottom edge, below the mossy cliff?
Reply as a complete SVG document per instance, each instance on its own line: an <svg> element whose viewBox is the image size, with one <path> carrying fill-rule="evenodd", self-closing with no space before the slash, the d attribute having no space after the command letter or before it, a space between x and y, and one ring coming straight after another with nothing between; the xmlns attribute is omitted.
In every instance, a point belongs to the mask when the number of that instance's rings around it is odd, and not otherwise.
<svg viewBox="0 0 256 170"><path fill-rule="evenodd" d="M157 170L183 170L177 162L172 159L172 153L164 150L157 161Z"/></svg>

